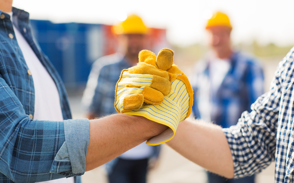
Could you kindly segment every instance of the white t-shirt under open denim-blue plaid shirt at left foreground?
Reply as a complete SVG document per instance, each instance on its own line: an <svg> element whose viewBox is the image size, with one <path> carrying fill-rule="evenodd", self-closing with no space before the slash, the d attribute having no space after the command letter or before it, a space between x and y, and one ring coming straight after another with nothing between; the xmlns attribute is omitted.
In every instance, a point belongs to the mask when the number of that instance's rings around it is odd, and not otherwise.
<svg viewBox="0 0 294 183"><path fill-rule="evenodd" d="M11 16L10 19L12 22L12 12L7 14ZM54 80L14 25L13 29L17 43L34 81L35 112L33 119L63 121L59 93ZM74 183L74 177L46 181L46 183Z"/></svg>

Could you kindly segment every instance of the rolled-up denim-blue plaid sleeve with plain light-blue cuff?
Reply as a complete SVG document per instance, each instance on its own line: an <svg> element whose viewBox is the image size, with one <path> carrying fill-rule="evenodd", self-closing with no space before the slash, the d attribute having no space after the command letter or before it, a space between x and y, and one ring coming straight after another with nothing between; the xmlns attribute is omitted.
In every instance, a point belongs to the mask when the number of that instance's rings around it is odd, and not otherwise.
<svg viewBox="0 0 294 183"><path fill-rule="evenodd" d="M30 119L1 75L0 93L0 177L27 183L85 172L88 119Z"/></svg>

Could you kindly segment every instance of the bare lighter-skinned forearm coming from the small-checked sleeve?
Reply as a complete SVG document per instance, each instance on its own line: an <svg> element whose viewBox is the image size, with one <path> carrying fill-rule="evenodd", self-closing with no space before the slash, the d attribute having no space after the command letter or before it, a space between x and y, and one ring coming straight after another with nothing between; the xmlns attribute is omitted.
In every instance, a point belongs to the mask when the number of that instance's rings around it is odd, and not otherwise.
<svg viewBox="0 0 294 183"><path fill-rule="evenodd" d="M185 120L179 124L177 133L167 144L211 172L227 178L234 176L228 141L217 125Z"/></svg>

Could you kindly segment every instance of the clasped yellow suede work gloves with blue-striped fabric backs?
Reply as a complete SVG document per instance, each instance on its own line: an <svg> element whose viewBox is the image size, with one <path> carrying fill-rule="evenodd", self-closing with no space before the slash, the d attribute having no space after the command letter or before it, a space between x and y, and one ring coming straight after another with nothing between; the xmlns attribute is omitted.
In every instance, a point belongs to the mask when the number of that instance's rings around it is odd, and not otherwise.
<svg viewBox="0 0 294 183"><path fill-rule="evenodd" d="M193 89L187 76L173 64L173 50L157 57L149 50L139 53L139 63L121 72L114 106L119 113L143 116L169 128L147 141L158 145L173 138L179 122L191 114Z"/></svg>

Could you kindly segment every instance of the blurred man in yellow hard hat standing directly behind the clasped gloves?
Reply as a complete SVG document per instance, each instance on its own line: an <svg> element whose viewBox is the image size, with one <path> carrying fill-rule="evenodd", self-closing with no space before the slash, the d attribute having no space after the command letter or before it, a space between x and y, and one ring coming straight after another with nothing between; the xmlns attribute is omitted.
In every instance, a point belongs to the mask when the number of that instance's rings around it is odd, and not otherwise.
<svg viewBox="0 0 294 183"><path fill-rule="evenodd" d="M146 49L147 27L140 17L130 15L120 24L113 26L112 31L118 35L124 54L104 56L93 63L83 95L83 103L88 108L88 119L117 113L113 102L121 71L135 66L139 52ZM158 157L159 148L160 146L142 143L107 163L109 182L146 182L148 161Z"/></svg>

